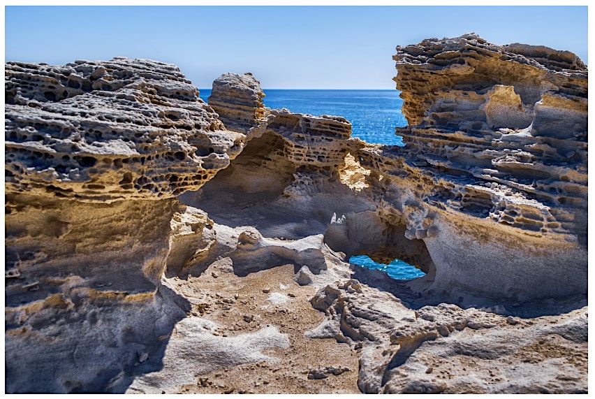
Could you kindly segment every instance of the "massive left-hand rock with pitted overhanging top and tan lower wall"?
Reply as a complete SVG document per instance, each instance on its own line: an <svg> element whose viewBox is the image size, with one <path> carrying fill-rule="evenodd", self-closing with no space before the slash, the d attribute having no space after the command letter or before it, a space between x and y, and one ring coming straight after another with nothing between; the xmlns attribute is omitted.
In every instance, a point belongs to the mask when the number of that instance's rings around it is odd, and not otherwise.
<svg viewBox="0 0 595 399"><path fill-rule="evenodd" d="M6 389L118 391L185 315L160 282L175 196L244 135L157 61L8 63L5 89Z"/></svg>

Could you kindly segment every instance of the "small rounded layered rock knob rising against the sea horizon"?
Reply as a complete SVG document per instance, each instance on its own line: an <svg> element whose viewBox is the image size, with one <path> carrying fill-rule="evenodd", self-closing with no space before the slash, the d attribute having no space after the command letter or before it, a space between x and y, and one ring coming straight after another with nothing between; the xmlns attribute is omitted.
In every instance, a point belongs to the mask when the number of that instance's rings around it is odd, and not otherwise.
<svg viewBox="0 0 595 399"><path fill-rule="evenodd" d="M251 73L223 73L214 80L208 101L228 129L246 133L265 116L264 98Z"/></svg>

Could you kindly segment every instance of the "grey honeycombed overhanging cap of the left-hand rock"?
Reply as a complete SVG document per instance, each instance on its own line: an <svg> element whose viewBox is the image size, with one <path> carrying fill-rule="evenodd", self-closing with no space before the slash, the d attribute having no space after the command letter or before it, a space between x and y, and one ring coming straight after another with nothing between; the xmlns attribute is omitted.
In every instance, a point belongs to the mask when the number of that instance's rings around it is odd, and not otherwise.
<svg viewBox="0 0 595 399"><path fill-rule="evenodd" d="M176 66L6 64L6 189L80 201L168 198L229 164L227 131Z"/></svg>

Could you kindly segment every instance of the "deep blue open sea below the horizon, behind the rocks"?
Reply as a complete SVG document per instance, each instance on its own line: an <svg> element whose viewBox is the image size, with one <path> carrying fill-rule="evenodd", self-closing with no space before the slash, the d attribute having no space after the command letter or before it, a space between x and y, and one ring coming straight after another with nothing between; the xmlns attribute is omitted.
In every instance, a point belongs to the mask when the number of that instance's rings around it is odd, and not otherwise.
<svg viewBox="0 0 595 399"><path fill-rule="evenodd" d="M264 90L265 106L294 113L335 115L353 125L353 137L367 143L404 145L395 127L407 125L398 90ZM210 89L200 89L207 101Z"/></svg>

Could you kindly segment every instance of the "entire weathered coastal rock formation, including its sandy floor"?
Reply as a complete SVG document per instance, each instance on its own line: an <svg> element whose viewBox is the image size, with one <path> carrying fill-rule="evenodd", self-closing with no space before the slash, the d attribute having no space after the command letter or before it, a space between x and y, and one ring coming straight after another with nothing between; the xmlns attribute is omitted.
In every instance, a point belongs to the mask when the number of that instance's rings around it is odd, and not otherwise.
<svg viewBox="0 0 595 399"><path fill-rule="evenodd" d="M249 73L8 63L6 391L586 392L585 65L395 60L404 147Z"/></svg>

